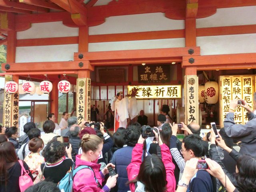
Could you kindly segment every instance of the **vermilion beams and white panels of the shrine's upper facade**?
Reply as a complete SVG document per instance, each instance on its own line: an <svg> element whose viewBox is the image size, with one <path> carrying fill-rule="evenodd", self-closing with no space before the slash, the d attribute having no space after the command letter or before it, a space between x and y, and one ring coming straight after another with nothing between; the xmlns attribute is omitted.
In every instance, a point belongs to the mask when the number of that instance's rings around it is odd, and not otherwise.
<svg viewBox="0 0 256 192"><path fill-rule="evenodd" d="M255 0L0 0L0 12L2 70L16 81L48 74L55 114L62 74L72 84L127 86L139 84L142 63L176 62L170 84L201 70L256 68ZM126 81L97 81L102 66L127 67Z"/></svg>

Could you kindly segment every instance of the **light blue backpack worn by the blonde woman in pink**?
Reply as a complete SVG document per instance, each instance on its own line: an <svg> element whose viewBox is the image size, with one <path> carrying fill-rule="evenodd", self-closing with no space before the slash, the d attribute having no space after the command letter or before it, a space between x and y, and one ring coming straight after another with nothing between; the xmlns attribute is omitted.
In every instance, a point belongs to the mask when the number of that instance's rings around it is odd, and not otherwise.
<svg viewBox="0 0 256 192"><path fill-rule="evenodd" d="M80 171L81 169L92 170L92 172L94 174L94 180L96 181L97 186L102 188L100 182L98 181L98 179L95 176L94 170L91 167L89 167L87 165L81 165L74 169L75 166L76 166L76 162L74 162L74 164L72 165L72 168L70 168L70 170L67 172L67 174L64 176L64 178L62 178L62 180L60 180L60 182L58 183L57 187L61 190L61 192L72 192L73 191L74 177L75 177L76 173L78 171Z"/></svg>

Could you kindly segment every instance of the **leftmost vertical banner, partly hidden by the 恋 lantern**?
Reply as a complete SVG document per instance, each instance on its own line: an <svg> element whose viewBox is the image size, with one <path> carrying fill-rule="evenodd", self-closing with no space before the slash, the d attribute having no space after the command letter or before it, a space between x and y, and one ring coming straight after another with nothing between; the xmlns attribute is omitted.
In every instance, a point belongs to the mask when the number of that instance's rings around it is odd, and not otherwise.
<svg viewBox="0 0 256 192"><path fill-rule="evenodd" d="M12 76L5 75L5 83L12 80ZM4 111L3 126L10 127L12 125L12 94L4 90Z"/></svg>

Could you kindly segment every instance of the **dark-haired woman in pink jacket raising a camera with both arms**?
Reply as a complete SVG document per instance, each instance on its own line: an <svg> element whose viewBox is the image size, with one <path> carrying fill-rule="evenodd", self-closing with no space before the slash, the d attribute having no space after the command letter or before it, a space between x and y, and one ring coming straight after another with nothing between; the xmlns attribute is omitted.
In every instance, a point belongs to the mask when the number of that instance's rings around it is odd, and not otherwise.
<svg viewBox="0 0 256 192"><path fill-rule="evenodd" d="M156 132L154 132L156 134ZM156 134L157 135L157 134ZM130 190L134 192L175 192L175 166L166 144L159 137L162 160L157 155L147 156L142 162L144 138L140 136L132 150L132 162L127 167Z"/></svg>

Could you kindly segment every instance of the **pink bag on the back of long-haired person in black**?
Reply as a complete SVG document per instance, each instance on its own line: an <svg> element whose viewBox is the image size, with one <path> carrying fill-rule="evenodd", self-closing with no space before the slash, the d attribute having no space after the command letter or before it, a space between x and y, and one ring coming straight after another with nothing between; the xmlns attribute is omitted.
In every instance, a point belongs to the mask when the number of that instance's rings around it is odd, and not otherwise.
<svg viewBox="0 0 256 192"><path fill-rule="evenodd" d="M18 160L21 166L21 175L19 178L20 192L24 192L27 188L33 185L31 177L28 175L29 171L25 170L22 160Z"/></svg>

